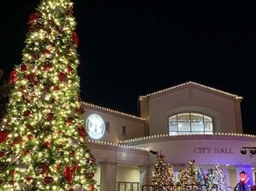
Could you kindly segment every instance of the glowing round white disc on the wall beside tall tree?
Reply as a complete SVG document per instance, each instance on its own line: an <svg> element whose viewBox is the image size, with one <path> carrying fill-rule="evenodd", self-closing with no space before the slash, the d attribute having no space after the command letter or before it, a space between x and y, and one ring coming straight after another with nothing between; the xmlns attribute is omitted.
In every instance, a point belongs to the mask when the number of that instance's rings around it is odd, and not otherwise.
<svg viewBox="0 0 256 191"><path fill-rule="evenodd" d="M86 120L86 128L91 138L102 138L105 132L105 123L99 114L91 114Z"/></svg>

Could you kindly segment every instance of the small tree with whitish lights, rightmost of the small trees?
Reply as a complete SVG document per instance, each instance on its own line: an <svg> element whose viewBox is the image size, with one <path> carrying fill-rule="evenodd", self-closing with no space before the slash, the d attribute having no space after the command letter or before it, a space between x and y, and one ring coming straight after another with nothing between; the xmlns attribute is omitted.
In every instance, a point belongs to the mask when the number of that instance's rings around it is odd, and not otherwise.
<svg viewBox="0 0 256 191"><path fill-rule="evenodd" d="M218 190L227 191L227 180L225 175L223 174L223 170L220 164L217 164L213 168L214 180L216 185L218 186Z"/></svg>

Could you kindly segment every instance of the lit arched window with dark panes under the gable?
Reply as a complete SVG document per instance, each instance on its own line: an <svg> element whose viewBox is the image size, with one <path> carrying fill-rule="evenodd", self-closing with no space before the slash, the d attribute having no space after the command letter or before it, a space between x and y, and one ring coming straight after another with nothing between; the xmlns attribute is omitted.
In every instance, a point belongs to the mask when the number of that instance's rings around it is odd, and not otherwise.
<svg viewBox="0 0 256 191"><path fill-rule="evenodd" d="M180 113L168 118L169 135L213 134L213 118L199 113Z"/></svg>

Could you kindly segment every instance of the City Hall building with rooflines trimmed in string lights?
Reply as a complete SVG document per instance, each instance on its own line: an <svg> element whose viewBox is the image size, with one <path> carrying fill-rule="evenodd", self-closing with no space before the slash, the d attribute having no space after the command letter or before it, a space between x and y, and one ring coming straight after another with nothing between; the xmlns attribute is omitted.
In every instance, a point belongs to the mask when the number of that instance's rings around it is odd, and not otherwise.
<svg viewBox="0 0 256 191"><path fill-rule="evenodd" d="M176 180L180 165L195 159L205 173L220 164L228 186L237 185L242 170L254 185L255 152L241 154L242 147L256 146L254 135L243 134L242 99L189 81L138 97L140 116L83 103L99 190L138 191L150 184L156 162L150 150L161 151Z"/></svg>

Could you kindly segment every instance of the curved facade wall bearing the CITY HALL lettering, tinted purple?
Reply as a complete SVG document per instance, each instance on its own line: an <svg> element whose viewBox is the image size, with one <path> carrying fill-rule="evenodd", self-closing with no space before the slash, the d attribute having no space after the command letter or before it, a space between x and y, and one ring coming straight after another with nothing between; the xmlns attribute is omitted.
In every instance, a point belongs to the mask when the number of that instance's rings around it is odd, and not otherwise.
<svg viewBox="0 0 256 191"><path fill-rule="evenodd" d="M255 158L241 155L240 148L254 147L255 138L225 135L179 135L149 138L126 143L150 150L161 151L172 165L187 163L195 159L199 165L254 165ZM154 164L154 155L150 163Z"/></svg>

